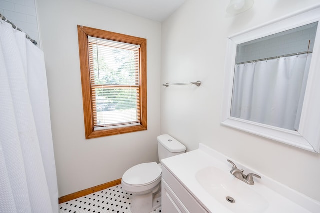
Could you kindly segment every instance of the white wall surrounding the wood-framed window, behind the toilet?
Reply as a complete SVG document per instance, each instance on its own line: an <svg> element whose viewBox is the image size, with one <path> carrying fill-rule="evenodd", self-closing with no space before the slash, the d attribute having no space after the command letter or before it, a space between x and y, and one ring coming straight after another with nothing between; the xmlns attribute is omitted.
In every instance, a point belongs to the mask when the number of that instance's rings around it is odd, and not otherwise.
<svg viewBox="0 0 320 213"><path fill-rule="evenodd" d="M157 160L161 24L86 0L37 0L59 196L122 177ZM77 25L147 39L148 130L85 140Z"/></svg>

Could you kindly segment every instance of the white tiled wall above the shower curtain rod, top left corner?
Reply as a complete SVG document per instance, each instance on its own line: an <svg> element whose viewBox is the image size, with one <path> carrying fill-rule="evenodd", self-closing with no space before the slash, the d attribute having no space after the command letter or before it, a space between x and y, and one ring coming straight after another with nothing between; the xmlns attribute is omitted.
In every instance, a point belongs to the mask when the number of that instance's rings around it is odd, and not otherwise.
<svg viewBox="0 0 320 213"><path fill-rule="evenodd" d="M34 0L0 0L0 13L39 42Z"/></svg>

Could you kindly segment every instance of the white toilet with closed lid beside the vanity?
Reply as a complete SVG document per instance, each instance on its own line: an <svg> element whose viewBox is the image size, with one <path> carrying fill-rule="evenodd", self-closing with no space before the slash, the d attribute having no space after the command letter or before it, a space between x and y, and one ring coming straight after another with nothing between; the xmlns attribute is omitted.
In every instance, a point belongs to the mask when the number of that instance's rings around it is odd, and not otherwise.
<svg viewBox="0 0 320 213"><path fill-rule="evenodd" d="M182 154L186 148L168 134L157 137L159 161ZM149 213L161 206L161 164L147 162L129 168L122 176L121 186L132 193L132 213Z"/></svg>

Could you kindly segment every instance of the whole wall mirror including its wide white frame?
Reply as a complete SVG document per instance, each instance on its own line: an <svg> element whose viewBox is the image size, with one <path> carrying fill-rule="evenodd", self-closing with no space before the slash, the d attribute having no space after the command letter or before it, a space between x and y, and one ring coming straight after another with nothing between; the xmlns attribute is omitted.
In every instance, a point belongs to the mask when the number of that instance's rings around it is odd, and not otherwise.
<svg viewBox="0 0 320 213"><path fill-rule="evenodd" d="M221 124L320 151L320 7L228 37Z"/></svg>

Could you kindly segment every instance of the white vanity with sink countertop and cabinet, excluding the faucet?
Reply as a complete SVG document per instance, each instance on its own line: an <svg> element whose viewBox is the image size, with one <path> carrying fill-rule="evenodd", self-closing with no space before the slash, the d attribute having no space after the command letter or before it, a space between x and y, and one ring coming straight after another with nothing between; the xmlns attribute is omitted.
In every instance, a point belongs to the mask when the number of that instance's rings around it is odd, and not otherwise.
<svg viewBox="0 0 320 213"><path fill-rule="evenodd" d="M320 202L236 162L247 173L258 173L248 185L229 171L227 159L200 143L193 151L168 157L162 164L162 212L319 213ZM203 172L205 171L205 172ZM232 196L236 202L225 198Z"/></svg>

